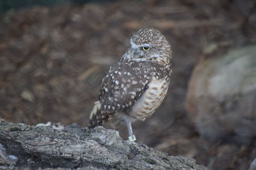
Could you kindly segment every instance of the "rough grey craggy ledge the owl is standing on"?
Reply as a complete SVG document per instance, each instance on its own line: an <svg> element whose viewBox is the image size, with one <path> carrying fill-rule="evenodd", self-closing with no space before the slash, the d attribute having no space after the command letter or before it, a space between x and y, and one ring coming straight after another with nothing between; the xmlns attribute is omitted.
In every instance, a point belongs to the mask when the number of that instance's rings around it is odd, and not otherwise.
<svg viewBox="0 0 256 170"><path fill-rule="evenodd" d="M10 168L206 169L120 138L103 127L63 129L0 122L0 165Z"/></svg>

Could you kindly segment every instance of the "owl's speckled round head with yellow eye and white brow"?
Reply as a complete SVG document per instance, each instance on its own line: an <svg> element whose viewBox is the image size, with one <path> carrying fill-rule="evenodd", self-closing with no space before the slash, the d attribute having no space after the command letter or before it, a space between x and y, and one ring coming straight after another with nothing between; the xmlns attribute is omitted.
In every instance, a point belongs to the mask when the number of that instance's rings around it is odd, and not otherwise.
<svg viewBox="0 0 256 170"><path fill-rule="evenodd" d="M172 49L163 34L154 29L140 29L130 39L127 57L136 61L170 64Z"/></svg>

